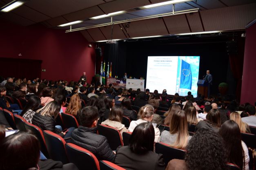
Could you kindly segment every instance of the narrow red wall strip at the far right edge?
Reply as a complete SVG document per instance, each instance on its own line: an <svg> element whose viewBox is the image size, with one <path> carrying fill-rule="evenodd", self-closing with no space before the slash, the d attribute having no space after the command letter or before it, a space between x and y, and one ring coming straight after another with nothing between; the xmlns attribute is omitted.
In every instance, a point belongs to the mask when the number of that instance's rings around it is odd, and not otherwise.
<svg viewBox="0 0 256 170"><path fill-rule="evenodd" d="M240 103L256 102L256 23L246 29L245 57L243 66Z"/></svg>

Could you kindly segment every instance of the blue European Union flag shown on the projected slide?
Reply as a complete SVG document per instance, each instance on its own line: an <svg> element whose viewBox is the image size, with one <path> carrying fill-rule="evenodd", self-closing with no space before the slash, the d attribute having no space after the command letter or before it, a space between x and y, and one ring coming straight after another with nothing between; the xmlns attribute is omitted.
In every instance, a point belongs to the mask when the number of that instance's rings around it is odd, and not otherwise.
<svg viewBox="0 0 256 170"><path fill-rule="evenodd" d="M180 89L190 89L192 86L192 74L190 64L186 61L181 61L180 69Z"/></svg>

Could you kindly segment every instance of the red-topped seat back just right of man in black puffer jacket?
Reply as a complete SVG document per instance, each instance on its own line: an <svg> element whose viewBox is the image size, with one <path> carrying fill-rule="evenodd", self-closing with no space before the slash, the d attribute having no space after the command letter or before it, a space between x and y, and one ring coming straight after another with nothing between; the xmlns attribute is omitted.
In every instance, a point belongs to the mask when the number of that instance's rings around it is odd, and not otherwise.
<svg viewBox="0 0 256 170"><path fill-rule="evenodd" d="M118 146L124 146L120 132L114 128L104 124L98 124L98 133L107 137L107 141L112 150L116 150Z"/></svg>

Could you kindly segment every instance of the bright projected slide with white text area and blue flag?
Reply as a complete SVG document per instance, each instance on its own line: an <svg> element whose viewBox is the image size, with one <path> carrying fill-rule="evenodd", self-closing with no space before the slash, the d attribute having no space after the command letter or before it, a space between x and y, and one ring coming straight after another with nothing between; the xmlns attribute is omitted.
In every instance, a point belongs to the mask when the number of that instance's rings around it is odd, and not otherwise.
<svg viewBox="0 0 256 170"><path fill-rule="evenodd" d="M148 56L146 88L180 96L190 91L196 97L199 61L199 56Z"/></svg>

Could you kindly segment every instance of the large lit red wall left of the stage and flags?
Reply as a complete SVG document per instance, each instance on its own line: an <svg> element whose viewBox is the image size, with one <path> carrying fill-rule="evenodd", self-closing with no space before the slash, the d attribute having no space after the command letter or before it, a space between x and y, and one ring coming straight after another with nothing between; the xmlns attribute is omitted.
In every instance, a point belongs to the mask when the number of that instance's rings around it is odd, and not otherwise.
<svg viewBox="0 0 256 170"><path fill-rule="evenodd" d="M65 33L40 24L23 27L4 20L0 25L0 57L42 60L46 72L41 72L41 78L47 80L78 81L86 72L87 82L91 83L95 50L88 47L80 32Z"/></svg>

